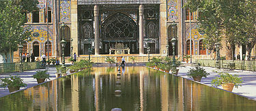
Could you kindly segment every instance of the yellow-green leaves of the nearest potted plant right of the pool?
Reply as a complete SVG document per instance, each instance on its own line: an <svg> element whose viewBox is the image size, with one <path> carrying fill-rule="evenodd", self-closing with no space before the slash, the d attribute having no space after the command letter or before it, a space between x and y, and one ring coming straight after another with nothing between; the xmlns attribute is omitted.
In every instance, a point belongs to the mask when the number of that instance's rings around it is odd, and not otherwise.
<svg viewBox="0 0 256 111"><path fill-rule="evenodd" d="M223 83L233 83L235 87L238 88L238 86L241 86L242 84L242 78L238 77L236 74L231 75L227 72L220 72L218 75L220 76L217 76L212 80L212 85L215 85L216 87Z"/></svg>

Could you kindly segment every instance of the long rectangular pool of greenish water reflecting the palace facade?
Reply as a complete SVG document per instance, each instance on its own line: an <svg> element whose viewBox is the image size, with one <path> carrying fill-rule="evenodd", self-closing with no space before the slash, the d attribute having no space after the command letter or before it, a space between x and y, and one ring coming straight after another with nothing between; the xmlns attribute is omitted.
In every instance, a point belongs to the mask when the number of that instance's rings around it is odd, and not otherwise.
<svg viewBox="0 0 256 111"><path fill-rule="evenodd" d="M95 67L0 98L0 110L112 108L255 110L256 101L143 66Z"/></svg>

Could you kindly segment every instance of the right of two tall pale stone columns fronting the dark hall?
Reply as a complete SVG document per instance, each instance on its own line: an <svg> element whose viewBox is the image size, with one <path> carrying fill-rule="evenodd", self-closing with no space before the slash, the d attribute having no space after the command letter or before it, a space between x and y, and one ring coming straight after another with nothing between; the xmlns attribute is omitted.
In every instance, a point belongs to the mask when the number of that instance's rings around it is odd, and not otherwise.
<svg viewBox="0 0 256 111"><path fill-rule="evenodd" d="M143 12L144 5L139 5L139 54L143 54L143 35L144 35L144 24L143 24Z"/></svg>

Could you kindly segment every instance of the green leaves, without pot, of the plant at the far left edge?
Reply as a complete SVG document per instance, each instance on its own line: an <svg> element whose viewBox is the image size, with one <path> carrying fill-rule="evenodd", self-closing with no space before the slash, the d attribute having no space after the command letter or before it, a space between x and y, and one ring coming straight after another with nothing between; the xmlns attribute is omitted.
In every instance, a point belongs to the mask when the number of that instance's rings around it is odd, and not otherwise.
<svg viewBox="0 0 256 111"><path fill-rule="evenodd" d="M12 87L26 87L27 84L23 83L23 79L20 79L19 76L11 76L6 77L3 79L0 79L0 87L7 87L7 86L12 86Z"/></svg>

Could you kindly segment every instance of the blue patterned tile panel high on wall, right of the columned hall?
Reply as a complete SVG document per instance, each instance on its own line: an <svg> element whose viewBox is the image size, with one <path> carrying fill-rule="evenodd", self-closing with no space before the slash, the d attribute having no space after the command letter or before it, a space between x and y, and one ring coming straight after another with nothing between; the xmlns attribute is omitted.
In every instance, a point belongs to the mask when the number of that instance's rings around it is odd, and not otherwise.
<svg viewBox="0 0 256 111"><path fill-rule="evenodd" d="M177 0L167 1L167 20L177 20Z"/></svg>

